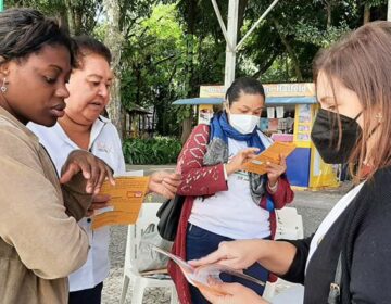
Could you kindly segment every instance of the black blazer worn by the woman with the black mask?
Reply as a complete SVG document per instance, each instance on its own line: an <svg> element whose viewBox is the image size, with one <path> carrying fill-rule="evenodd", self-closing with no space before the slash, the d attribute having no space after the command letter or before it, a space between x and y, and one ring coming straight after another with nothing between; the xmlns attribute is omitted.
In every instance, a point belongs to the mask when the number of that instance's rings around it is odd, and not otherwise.
<svg viewBox="0 0 391 304"><path fill-rule="evenodd" d="M391 168L378 170L321 239L304 269L312 237L281 278L303 283L304 304L327 303L342 253L341 303L391 303Z"/></svg>

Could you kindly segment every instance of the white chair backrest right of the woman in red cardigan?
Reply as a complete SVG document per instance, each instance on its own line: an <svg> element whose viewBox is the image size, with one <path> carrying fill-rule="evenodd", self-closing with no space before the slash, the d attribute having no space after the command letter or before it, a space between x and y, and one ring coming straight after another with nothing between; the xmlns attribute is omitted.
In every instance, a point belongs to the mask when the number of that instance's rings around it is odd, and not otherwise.
<svg viewBox="0 0 391 304"><path fill-rule="evenodd" d="M283 207L276 212L276 239L297 240L304 237L303 218L294 207Z"/></svg>

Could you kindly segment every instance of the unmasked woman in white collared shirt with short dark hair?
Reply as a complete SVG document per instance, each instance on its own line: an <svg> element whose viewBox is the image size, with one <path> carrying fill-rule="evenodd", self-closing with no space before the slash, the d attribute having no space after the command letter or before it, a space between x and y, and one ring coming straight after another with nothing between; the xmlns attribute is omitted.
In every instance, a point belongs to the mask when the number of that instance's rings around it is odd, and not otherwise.
<svg viewBox="0 0 391 304"><path fill-rule="evenodd" d="M76 149L90 151L102 159L114 172L125 172L125 161L118 132L114 125L100 114L109 103L109 89L113 74L110 50L90 37L76 37L78 67L71 75L65 100L65 115L51 128L30 124L60 172L66 155ZM172 198L178 185L176 174L157 172L151 176L149 189ZM93 208L105 206L108 197L96 195ZM103 280L109 275L109 227L91 229L91 218L79 225L87 231L90 251L86 264L70 276L70 304L99 304Z"/></svg>

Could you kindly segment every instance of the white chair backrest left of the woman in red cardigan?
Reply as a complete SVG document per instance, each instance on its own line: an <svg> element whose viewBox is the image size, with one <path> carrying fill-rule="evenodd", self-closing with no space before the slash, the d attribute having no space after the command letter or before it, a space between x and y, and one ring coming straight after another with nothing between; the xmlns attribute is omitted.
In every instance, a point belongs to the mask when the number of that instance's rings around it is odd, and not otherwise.
<svg viewBox="0 0 391 304"><path fill-rule="evenodd" d="M137 259L139 244L141 242L141 237L146 229L150 227L151 224L154 224L154 229L157 229L159 217L156 216L157 210L161 207L162 203L143 203L139 217L135 225L129 225L127 243L126 243L126 259L125 263L129 262L129 267L138 273Z"/></svg>

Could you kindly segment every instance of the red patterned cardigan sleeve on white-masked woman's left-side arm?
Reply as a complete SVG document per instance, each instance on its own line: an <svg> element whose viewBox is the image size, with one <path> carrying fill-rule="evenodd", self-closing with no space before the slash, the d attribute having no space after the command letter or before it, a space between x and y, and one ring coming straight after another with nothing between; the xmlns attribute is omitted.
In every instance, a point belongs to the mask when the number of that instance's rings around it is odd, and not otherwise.
<svg viewBox="0 0 391 304"><path fill-rule="evenodd" d="M203 166L209 135L207 125L198 125L179 154L177 172L182 175L179 195L212 195L228 190L223 164Z"/></svg>

